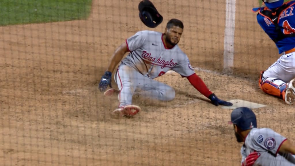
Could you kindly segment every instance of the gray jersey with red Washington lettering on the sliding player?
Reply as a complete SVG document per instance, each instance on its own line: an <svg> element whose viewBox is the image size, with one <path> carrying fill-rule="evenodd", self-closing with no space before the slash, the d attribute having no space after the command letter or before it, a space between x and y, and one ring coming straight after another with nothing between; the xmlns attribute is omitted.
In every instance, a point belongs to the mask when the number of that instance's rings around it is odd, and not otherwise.
<svg viewBox="0 0 295 166"><path fill-rule="evenodd" d="M151 79L160 77L169 70L176 71L182 77L194 74L186 54L178 45L166 48L162 36L160 32L143 30L127 38L130 53L122 63Z"/></svg>

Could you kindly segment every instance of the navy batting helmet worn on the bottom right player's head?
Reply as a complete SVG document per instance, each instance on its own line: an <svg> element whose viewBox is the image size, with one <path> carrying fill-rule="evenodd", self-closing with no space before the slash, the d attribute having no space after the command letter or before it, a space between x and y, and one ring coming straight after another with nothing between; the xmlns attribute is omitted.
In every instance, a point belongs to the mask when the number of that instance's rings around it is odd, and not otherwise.
<svg viewBox="0 0 295 166"><path fill-rule="evenodd" d="M230 123L237 125L242 131L257 128L255 113L248 107L239 107L232 110Z"/></svg>

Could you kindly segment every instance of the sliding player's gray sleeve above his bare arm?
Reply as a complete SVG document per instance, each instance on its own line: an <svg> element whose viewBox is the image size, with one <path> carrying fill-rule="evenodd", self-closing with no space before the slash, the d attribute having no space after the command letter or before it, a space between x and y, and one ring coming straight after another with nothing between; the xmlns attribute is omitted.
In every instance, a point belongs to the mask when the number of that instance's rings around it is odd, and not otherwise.
<svg viewBox="0 0 295 166"><path fill-rule="evenodd" d="M145 42L146 39L146 32L145 31L139 31L136 32L134 35L126 39L126 44L128 51L134 51L137 48L142 47L142 45Z"/></svg>

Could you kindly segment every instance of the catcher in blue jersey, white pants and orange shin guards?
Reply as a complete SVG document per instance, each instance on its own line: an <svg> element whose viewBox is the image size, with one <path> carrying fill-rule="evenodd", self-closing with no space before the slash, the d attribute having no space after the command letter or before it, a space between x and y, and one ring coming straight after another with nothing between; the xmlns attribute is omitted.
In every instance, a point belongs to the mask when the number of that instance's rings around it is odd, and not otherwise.
<svg viewBox="0 0 295 166"><path fill-rule="evenodd" d="M289 105L295 100L295 1L262 0L265 7L254 8L257 21L283 55L266 71L261 71L259 87Z"/></svg>

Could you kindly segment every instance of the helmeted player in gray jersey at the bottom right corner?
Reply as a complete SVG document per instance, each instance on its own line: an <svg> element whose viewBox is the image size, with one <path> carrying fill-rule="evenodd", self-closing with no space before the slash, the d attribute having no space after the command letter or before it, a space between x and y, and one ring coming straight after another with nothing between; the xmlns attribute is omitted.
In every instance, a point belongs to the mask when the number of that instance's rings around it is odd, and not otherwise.
<svg viewBox="0 0 295 166"><path fill-rule="evenodd" d="M242 166L295 166L295 146L284 136L270 128L257 128L256 116L247 107L232 111L230 124L233 124L237 142L241 148Z"/></svg>

